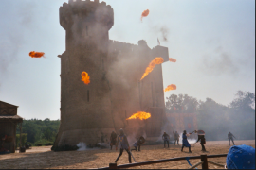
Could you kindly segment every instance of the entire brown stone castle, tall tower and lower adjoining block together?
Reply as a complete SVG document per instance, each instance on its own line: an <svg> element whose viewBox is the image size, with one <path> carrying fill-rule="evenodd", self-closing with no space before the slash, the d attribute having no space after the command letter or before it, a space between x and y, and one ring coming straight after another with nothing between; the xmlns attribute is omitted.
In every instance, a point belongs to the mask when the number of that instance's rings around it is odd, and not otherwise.
<svg viewBox="0 0 256 170"><path fill-rule="evenodd" d="M60 24L66 47L60 56L61 126L55 144L97 144L102 134L109 139L120 127L128 135L139 129L148 137L158 137L165 115L161 65L140 78L155 57L169 60L168 48L109 40L114 11L99 0L64 3ZM81 80L83 71L90 76L89 85ZM137 111L150 112L152 118L126 121Z"/></svg>

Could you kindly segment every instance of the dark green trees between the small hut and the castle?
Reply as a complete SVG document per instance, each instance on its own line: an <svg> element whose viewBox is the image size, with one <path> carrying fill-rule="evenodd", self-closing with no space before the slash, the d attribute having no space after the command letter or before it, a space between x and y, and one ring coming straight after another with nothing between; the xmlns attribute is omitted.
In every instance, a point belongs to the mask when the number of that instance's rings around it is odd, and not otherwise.
<svg viewBox="0 0 256 170"><path fill-rule="evenodd" d="M22 145L51 145L55 141L56 134L60 126L60 120L45 120L30 119L23 120L22 125ZM17 137L20 135L20 130L16 130ZM18 140L18 139L17 139Z"/></svg>

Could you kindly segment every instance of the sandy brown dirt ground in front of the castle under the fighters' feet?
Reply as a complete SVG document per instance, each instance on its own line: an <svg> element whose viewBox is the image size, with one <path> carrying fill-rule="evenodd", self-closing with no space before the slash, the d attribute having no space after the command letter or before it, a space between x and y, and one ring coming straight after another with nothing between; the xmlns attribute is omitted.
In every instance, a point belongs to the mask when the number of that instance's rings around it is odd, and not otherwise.
<svg viewBox="0 0 256 170"><path fill-rule="evenodd" d="M247 144L255 148L255 141L235 141L235 144ZM228 141L214 141L206 144L207 155L227 154L229 151ZM140 152L133 151L137 162L154 161L175 157L199 156L201 145L192 146L192 153L188 153L188 148L184 152L180 151L180 146L170 144L170 148L163 148L163 145L144 145ZM114 162L119 155L119 150L99 149L86 151L52 152L50 146L32 147L26 153L13 153L0 155L0 169L88 169L107 167L110 162ZM194 165L200 160L192 160ZM226 158L209 159L220 164L226 163ZM128 154L123 153L118 164L128 163ZM188 169L190 165L187 161L173 161L158 163L153 165L138 166L134 169ZM200 169L201 166L198 167ZM210 169L222 169L209 164Z"/></svg>

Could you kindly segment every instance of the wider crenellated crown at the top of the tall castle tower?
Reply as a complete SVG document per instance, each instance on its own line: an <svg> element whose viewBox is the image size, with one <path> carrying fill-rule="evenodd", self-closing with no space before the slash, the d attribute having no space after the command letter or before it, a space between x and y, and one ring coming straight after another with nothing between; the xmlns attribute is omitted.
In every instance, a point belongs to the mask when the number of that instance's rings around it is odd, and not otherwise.
<svg viewBox="0 0 256 170"><path fill-rule="evenodd" d="M74 17L81 18L83 22L98 23L108 27L114 25L114 10L105 2L99 0L69 0L60 7L60 24L66 30L74 24Z"/></svg>

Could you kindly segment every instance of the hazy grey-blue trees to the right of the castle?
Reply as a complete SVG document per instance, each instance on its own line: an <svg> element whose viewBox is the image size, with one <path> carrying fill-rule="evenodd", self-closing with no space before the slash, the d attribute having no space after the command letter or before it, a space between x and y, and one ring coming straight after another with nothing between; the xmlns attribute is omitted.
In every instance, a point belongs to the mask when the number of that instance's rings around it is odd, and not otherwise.
<svg viewBox="0 0 256 170"><path fill-rule="evenodd" d="M173 94L167 97L166 112L196 113L198 128L208 140L227 140L229 131L238 140L255 140L255 93L238 91L228 106Z"/></svg>

